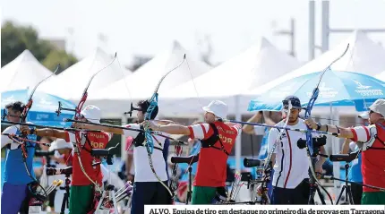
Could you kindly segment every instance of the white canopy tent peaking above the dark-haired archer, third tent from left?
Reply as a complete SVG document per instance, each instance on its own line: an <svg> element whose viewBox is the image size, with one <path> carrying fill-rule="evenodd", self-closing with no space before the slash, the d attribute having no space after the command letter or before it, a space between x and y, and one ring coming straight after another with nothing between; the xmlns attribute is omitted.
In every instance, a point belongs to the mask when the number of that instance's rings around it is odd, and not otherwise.
<svg viewBox="0 0 385 214"><path fill-rule="evenodd" d="M210 71L209 64L193 57L177 41L174 41L172 48L158 54L147 64L143 64L133 75L110 84L97 94L90 95L90 100L107 99L108 101L116 101L130 98L150 98L160 78L180 64L184 59L184 55L186 55L184 63L175 71L169 73L167 78L162 81L158 90L160 94Z"/></svg>

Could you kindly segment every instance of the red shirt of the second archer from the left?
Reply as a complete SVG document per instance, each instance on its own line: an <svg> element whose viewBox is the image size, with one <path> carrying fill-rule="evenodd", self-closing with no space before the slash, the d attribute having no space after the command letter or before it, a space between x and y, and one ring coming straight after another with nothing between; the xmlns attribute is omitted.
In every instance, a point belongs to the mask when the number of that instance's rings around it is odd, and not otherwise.
<svg viewBox="0 0 385 214"><path fill-rule="evenodd" d="M81 149L81 164L84 167L84 171L90 176L92 181L97 182L99 186L102 185L103 175L101 173L100 165L92 167L95 162L100 162L100 158L92 157L90 154L91 149L105 149L108 141L111 140L111 134L109 133L87 133L87 138L90 143L86 142ZM74 133L67 133L65 141L76 142ZM92 148L91 148L92 147ZM78 154L73 154L73 185L90 185L90 180L81 170L79 164Z"/></svg>

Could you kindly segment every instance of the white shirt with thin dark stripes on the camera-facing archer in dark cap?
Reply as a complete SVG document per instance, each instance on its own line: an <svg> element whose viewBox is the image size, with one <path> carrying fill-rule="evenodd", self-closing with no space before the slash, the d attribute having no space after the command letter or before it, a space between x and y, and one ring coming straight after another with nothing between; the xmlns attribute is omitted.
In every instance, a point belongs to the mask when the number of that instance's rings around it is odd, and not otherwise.
<svg viewBox="0 0 385 214"><path fill-rule="evenodd" d="M284 126L285 121L281 121L276 126ZM298 118L295 125L287 125L288 128L307 129L304 120ZM288 135L287 135L288 133ZM278 129L271 128L269 133L269 153L278 137ZM294 189L304 178L309 178L309 158L306 149L299 149L297 141L302 138L306 140L305 133L295 131L284 131L282 140L278 142L274 154L276 162L274 163L273 186L280 188Z"/></svg>

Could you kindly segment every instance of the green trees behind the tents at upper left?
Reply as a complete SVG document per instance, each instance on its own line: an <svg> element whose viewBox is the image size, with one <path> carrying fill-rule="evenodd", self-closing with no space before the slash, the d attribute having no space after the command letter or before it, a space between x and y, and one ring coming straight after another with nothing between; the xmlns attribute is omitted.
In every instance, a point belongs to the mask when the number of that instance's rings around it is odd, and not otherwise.
<svg viewBox="0 0 385 214"><path fill-rule="evenodd" d="M61 64L63 71L78 61L75 56L57 49L49 41L39 39L38 31L31 26L19 26L12 21L5 21L1 31L1 65L10 63L25 49L29 49L51 71L57 64Z"/></svg>

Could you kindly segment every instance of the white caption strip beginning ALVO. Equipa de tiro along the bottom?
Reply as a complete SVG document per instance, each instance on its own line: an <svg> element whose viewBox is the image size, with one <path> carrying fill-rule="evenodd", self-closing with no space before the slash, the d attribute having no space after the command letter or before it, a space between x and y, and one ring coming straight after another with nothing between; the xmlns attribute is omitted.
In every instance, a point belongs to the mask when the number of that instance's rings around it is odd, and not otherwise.
<svg viewBox="0 0 385 214"><path fill-rule="evenodd" d="M145 214L385 214L385 205L145 205Z"/></svg>

